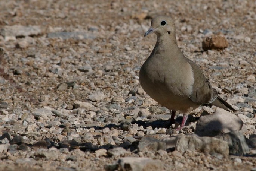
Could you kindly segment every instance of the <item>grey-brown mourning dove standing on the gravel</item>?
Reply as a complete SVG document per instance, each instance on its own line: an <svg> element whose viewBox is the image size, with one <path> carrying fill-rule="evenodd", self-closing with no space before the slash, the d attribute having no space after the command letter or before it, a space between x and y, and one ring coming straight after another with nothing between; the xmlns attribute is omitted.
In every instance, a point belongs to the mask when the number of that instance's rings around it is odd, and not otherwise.
<svg viewBox="0 0 256 171"><path fill-rule="evenodd" d="M168 16L157 16L144 37L157 35L155 47L139 72L144 91L155 101L172 110L170 124L175 123L176 111L184 113L180 130L190 111L203 104L236 111L220 98L200 67L186 58L177 45L175 24Z"/></svg>

